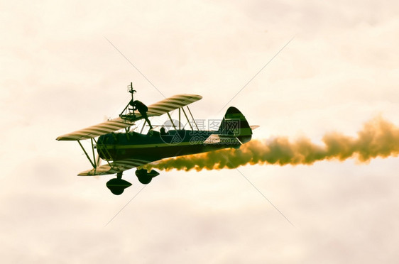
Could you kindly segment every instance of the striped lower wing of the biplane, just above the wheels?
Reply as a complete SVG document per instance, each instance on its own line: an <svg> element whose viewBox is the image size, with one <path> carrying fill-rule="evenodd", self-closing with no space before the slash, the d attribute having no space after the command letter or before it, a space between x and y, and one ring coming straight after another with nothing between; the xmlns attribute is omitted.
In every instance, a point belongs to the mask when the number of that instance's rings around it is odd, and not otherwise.
<svg viewBox="0 0 399 264"><path fill-rule="evenodd" d="M139 167L147 163L151 163L151 160L116 160L112 163L101 165L95 169L80 172L78 176L110 175L118 172L124 172L125 170L130 170L133 167Z"/></svg>

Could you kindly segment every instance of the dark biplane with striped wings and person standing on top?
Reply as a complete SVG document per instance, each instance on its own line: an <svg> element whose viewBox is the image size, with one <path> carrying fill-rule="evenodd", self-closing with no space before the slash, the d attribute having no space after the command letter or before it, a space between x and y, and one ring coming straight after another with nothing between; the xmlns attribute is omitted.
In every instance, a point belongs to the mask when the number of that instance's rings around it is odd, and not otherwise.
<svg viewBox="0 0 399 264"><path fill-rule="evenodd" d="M143 169L143 165L153 163L163 158L177 157L204 153L222 148L239 148L240 145L251 141L252 129L246 118L235 107L227 109L224 118L219 123L217 131L200 130L192 116L189 104L202 99L197 94L177 94L163 99L155 104L146 106L140 101L133 100L136 90L133 85L128 86L131 100L116 119L110 119L95 126L67 133L56 138L58 141L77 141L86 155L92 169L80 172L79 176L114 175L106 182L106 187L113 194L119 195L131 186L130 182L122 180L126 170L136 167L136 176L142 184L148 184L153 177L159 175L155 170ZM138 106L140 104L141 108ZM179 120L176 122L170 116L172 111L178 111ZM149 118L168 116L168 126L151 126ZM185 129L180 122L182 114L185 116L190 129ZM191 119L188 115L190 115ZM136 122L144 121L141 131ZM147 133L143 133L145 126L150 126ZM165 128L168 128L166 131ZM81 141L88 140L91 150L86 150ZM95 152L97 150L97 155ZM92 157L91 157L92 156ZM101 165L104 160L106 164ZM217 162L217 160L215 160Z"/></svg>

